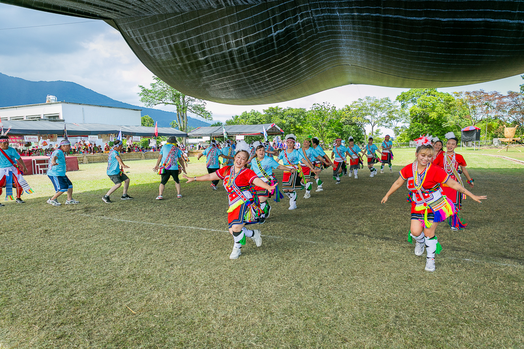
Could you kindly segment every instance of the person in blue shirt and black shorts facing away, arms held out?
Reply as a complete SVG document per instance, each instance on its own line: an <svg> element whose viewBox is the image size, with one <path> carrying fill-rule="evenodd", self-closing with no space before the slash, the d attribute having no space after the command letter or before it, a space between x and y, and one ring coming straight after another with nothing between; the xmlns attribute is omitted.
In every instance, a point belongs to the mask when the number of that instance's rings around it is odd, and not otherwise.
<svg viewBox="0 0 524 349"><path fill-rule="evenodd" d="M167 144L162 145L160 154L158 155L157 164L153 171L157 172L160 177L160 186L158 187L157 200L163 200L163 192L166 189L166 184L169 182L169 178L173 177L174 186L177 188L177 198L180 199L180 181L178 179L179 170L178 164L182 167L182 171L185 172L185 162L182 151L177 147L177 137L170 136L167 139Z"/></svg>

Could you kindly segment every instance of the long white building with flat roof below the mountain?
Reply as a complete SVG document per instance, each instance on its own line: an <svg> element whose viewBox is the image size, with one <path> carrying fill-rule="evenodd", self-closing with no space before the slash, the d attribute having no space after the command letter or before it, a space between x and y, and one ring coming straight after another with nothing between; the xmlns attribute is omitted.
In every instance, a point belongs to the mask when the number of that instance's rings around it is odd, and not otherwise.
<svg viewBox="0 0 524 349"><path fill-rule="evenodd" d="M48 96L53 100L54 96ZM56 100L56 97L54 98ZM49 102L0 108L1 120L64 120L73 123L140 126L140 109L105 107L90 104Z"/></svg>

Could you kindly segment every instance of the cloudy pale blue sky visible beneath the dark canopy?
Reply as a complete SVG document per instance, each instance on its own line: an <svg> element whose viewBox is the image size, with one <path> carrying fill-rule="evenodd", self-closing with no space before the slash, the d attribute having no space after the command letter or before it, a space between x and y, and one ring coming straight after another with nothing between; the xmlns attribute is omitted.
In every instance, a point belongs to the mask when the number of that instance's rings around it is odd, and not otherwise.
<svg viewBox="0 0 524 349"><path fill-rule="evenodd" d="M89 21L89 22L83 22ZM69 25L42 26L83 22ZM524 72L524 68L523 68ZM149 86L152 73L135 57L118 31L103 21L62 16L0 4L0 73L30 81L71 81L121 102L140 103L138 85ZM524 83L517 75L502 80L439 91L518 91ZM310 108L329 102L338 108L354 100L375 96L395 97L407 89L348 85L276 105ZM46 96L42 96L42 102ZM60 99L60 96L57 96ZM225 121L244 110L262 110L275 105L232 106L208 102L215 120ZM172 111L172 107L158 107Z"/></svg>

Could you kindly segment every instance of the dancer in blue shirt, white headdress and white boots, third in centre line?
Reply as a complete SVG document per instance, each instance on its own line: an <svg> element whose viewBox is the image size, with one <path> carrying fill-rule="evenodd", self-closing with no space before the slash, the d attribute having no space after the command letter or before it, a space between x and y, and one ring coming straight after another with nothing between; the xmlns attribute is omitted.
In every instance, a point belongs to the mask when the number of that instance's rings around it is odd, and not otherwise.
<svg viewBox="0 0 524 349"><path fill-rule="evenodd" d="M295 189L298 185L300 185L300 177L302 176L300 161L305 159L305 165L308 166L311 171L313 171L315 174L320 172L320 170L316 170L313 167L309 159L304 158L302 151L294 149L296 141L297 136L294 134L288 134L286 136L286 149L282 150L280 154L278 154L278 159L282 160L283 165L297 170L297 172L291 172L290 170L284 171L282 177L282 189L284 194L286 194L286 196L289 198L289 210L294 210L297 208L297 192Z"/></svg>

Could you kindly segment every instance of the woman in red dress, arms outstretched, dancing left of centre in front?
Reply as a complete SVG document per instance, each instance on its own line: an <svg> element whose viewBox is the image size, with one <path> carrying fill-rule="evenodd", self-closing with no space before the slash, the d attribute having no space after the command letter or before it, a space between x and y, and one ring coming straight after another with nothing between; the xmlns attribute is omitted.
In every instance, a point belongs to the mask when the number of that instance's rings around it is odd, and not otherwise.
<svg viewBox="0 0 524 349"><path fill-rule="evenodd" d="M256 195L255 186L269 191L277 186L269 185L260 179L255 172L246 167L249 160L247 150L238 150L234 157L233 166L224 166L217 170L199 177L188 177L187 183L193 181L217 181L222 179L229 198L229 209L227 210L227 221L229 231L233 235L233 252L230 259L236 260L241 253L242 245L245 245L246 238L251 238L257 247L262 245L260 230L249 230L245 226L259 222L259 217L263 213Z"/></svg>

